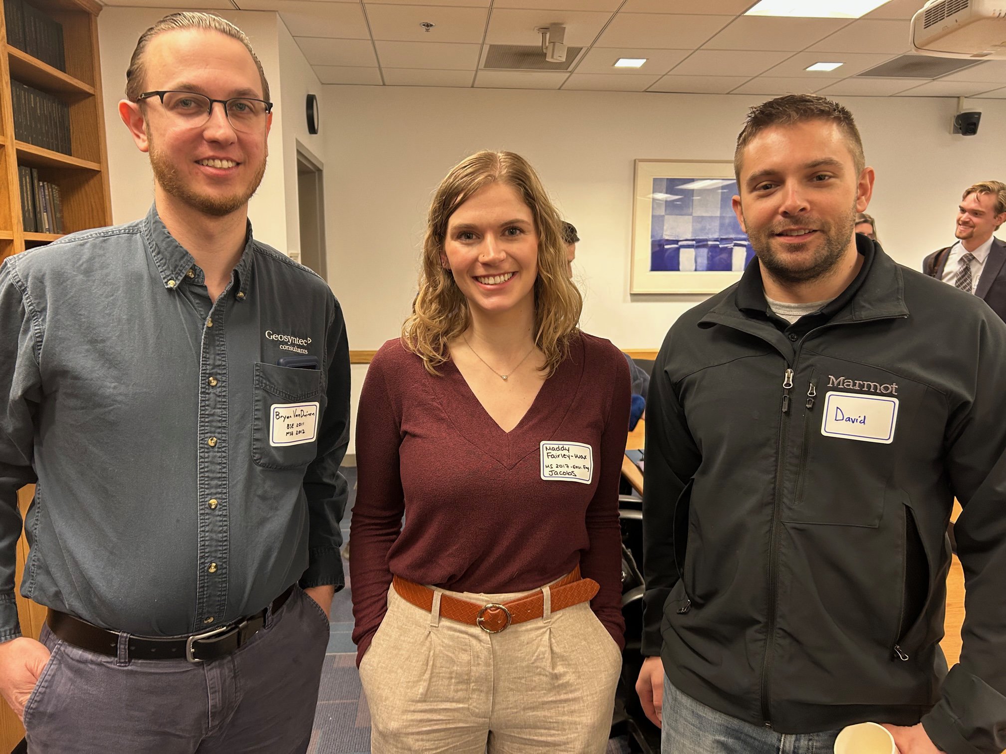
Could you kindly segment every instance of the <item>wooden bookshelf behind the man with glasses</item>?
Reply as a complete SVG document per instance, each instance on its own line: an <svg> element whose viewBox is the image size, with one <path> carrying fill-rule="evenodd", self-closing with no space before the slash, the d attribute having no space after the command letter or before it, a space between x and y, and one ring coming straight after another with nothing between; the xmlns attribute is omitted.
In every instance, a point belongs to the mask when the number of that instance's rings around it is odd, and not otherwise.
<svg viewBox="0 0 1006 754"><path fill-rule="evenodd" d="M62 26L66 70L59 70L7 43L8 23L0 4L0 261L25 248L55 240L54 233L25 231L21 219L19 165L36 168L39 180L59 187L66 232L112 223L102 76L98 54L98 14L94 0L28 0ZM14 133L11 79L52 95L69 108L70 154L28 144ZM34 494L33 487L18 493L22 515ZM22 533L17 544L17 583L27 560ZM17 593L21 630L37 637L45 608ZM24 736L17 716L0 704L0 752L10 751Z"/></svg>

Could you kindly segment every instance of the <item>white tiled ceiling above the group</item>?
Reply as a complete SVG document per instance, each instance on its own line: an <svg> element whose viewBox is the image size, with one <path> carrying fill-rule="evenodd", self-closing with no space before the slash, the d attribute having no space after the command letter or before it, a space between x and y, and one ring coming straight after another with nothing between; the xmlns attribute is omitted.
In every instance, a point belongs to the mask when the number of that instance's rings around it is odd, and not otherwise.
<svg viewBox="0 0 1006 754"><path fill-rule="evenodd" d="M191 1L185 7L278 11L323 83L1006 99L1006 61L939 79L855 77L911 51L909 19L925 0L889 0L851 21L743 16L754 0ZM425 31L425 21L436 26ZM481 69L488 45L538 44L535 27L550 23L583 47L568 72ZM612 67L619 57L648 59ZM819 61L844 64L806 70Z"/></svg>

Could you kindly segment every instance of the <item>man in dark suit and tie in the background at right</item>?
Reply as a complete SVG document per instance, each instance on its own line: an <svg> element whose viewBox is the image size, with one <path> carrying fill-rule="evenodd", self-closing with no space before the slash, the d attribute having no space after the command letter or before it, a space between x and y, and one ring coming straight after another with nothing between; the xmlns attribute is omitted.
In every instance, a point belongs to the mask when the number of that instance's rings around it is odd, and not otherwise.
<svg viewBox="0 0 1006 754"><path fill-rule="evenodd" d="M923 271L983 299L1006 320L1006 243L992 234L1006 222L1006 184L983 181L965 190L957 243L934 251Z"/></svg>

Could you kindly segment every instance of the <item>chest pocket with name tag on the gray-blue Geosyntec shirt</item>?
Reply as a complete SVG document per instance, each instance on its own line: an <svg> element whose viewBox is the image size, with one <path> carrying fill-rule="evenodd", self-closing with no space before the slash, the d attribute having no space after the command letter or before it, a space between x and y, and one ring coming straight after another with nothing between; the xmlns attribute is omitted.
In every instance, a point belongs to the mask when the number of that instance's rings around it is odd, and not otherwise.
<svg viewBox="0 0 1006 754"><path fill-rule="evenodd" d="M299 468L318 453L324 409L320 369L255 365L252 458L264 468Z"/></svg>

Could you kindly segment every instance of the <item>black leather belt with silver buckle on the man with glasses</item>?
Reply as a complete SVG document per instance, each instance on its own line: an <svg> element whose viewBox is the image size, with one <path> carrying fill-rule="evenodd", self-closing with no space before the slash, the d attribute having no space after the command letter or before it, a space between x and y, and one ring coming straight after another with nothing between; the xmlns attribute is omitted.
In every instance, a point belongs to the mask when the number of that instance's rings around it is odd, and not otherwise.
<svg viewBox="0 0 1006 754"><path fill-rule="evenodd" d="M290 586L270 605L277 612L290 598L294 587ZM181 659L190 663L205 663L229 654L258 633L266 622L264 608L255 615L239 618L227 625L221 625L191 636L160 638L158 636L129 636L129 656L132 659ZM119 631L110 631L94 623L80 620L59 610L49 609L45 618L49 630L68 644L88 651L119 656Z"/></svg>

